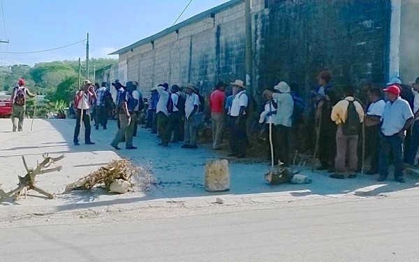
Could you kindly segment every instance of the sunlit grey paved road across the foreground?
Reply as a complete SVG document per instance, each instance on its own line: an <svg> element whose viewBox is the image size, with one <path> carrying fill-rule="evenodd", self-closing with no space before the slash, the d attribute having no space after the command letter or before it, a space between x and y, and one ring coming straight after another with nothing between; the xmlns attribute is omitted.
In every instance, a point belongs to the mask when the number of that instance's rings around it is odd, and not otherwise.
<svg viewBox="0 0 419 262"><path fill-rule="evenodd" d="M228 209L228 207L226 207ZM175 210L161 212L164 217ZM419 197L0 224L1 261L418 261ZM131 216L131 219L128 217Z"/></svg>

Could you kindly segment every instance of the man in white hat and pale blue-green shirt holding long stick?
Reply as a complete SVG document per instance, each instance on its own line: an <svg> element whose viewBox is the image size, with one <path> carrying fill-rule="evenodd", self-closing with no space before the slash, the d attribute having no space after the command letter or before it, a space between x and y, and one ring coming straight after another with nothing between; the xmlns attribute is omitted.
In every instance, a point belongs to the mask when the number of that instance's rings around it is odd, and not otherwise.
<svg viewBox="0 0 419 262"><path fill-rule="evenodd" d="M272 115L274 121L274 159L289 165L289 133L293 123L294 101L291 87L286 82L274 86L275 92L265 90L265 96L277 102L277 114Z"/></svg>

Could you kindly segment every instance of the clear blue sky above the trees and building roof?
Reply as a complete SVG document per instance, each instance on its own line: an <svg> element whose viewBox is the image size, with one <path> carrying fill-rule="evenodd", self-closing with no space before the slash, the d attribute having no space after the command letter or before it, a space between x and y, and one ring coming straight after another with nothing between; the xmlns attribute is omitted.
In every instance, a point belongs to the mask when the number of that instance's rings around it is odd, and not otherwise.
<svg viewBox="0 0 419 262"><path fill-rule="evenodd" d="M112 57L110 52L171 27L190 0L1 0L0 66L34 64L78 57ZM179 22L228 0L193 0ZM0 13L1 15L1 13ZM3 23L4 19L4 23ZM113 56L117 58L117 56Z"/></svg>

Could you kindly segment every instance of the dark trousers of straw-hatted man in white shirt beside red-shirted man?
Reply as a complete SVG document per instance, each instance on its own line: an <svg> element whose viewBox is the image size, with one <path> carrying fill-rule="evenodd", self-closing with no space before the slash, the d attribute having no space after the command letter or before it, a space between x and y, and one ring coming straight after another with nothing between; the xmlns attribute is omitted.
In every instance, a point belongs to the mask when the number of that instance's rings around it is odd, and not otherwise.
<svg viewBox="0 0 419 262"><path fill-rule="evenodd" d="M230 117L231 133L230 148L232 153L237 157L246 156L247 133L246 119L242 117L241 121L236 123L237 117Z"/></svg>

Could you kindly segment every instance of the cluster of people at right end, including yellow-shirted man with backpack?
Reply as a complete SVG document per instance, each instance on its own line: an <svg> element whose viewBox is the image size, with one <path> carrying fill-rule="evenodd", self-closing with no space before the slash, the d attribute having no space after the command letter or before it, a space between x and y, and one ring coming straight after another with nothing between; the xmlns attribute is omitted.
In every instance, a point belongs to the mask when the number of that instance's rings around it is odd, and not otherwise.
<svg viewBox="0 0 419 262"><path fill-rule="evenodd" d="M358 96L346 85L340 101L330 79L328 71L322 72L314 92L318 169L328 170L332 178L353 178L370 157L366 173L379 174L378 181L384 181L392 160L395 180L404 182L404 161L413 166L419 145L419 129L413 125L419 116L419 78L410 87L393 78L384 89L363 82ZM408 131L411 141L405 143Z"/></svg>

